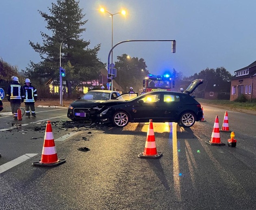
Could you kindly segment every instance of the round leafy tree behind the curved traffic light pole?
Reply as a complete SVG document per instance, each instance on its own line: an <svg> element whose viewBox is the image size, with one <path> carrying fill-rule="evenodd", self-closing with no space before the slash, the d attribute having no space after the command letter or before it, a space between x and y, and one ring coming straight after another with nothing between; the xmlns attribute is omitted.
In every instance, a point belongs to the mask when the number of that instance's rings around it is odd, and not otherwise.
<svg viewBox="0 0 256 210"><path fill-rule="evenodd" d="M147 74L150 74L146 69L147 65L144 59L137 57L131 58L127 54L122 54L121 56L117 56L117 60L115 62L115 68L117 69L116 82L119 84L120 76L120 85L123 87L124 92L128 91L130 87L133 87L136 92L139 92L139 89L142 88L143 79Z"/></svg>

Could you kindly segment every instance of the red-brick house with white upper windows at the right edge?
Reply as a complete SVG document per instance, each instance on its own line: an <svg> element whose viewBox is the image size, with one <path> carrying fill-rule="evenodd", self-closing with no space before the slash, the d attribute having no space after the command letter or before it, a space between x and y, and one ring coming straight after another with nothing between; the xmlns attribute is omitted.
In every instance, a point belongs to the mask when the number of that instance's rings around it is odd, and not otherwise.
<svg viewBox="0 0 256 210"><path fill-rule="evenodd" d="M235 76L231 78L230 101L236 100L241 94L244 94L247 100L256 98L256 87L254 79L256 78L256 61L242 69L234 71Z"/></svg>

